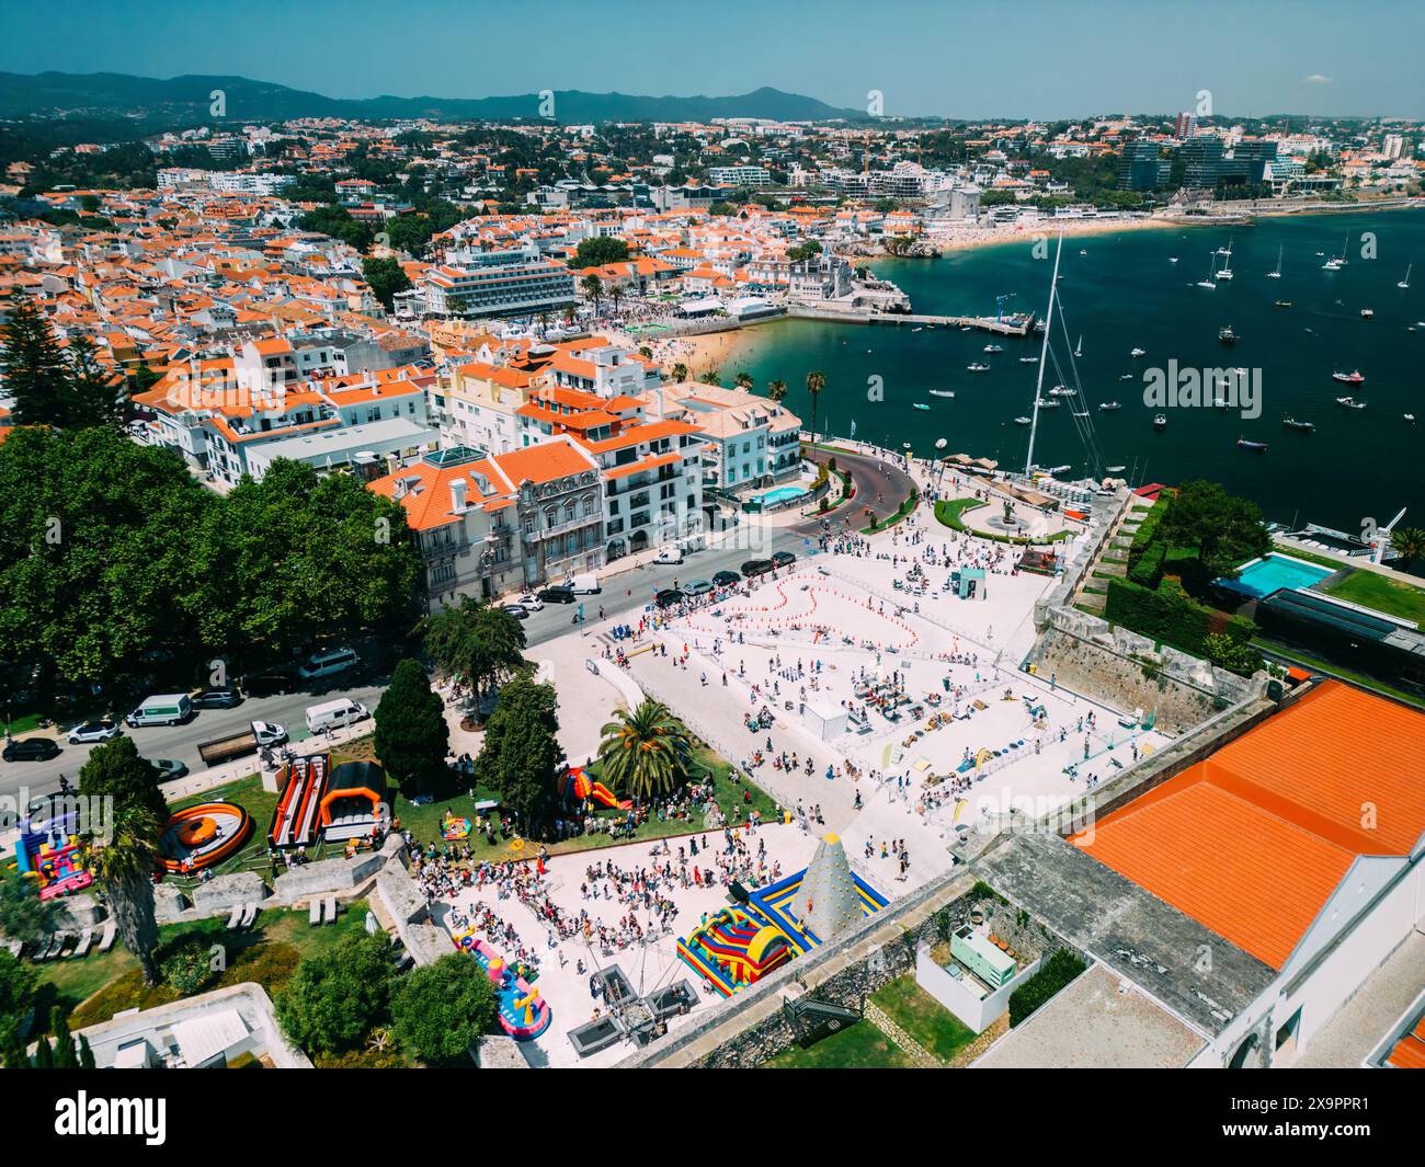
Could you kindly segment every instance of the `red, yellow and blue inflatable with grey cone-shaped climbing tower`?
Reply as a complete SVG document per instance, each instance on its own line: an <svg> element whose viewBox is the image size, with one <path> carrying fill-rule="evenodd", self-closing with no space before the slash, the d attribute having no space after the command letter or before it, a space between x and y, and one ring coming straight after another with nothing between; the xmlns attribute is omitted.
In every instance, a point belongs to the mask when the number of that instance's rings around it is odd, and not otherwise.
<svg viewBox="0 0 1425 1167"><path fill-rule="evenodd" d="M886 898L851 869L841 839L826 835L804 871L748 893L678 939L678 956L722 996L854 928Z"/></svg>

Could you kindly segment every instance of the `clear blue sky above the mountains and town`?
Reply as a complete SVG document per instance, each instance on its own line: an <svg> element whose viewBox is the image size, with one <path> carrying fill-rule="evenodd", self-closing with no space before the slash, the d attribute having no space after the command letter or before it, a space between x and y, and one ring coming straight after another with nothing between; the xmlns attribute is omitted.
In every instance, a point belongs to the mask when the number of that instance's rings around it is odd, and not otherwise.
<svg viewBox="0 0 1425 1167"><path fill-rule="evenodd" d="M6 0L0 70L329 97L740 94L886 115L1425 117L1421 0ZM1206 97L1204 97L1206 95Z"/></svg>

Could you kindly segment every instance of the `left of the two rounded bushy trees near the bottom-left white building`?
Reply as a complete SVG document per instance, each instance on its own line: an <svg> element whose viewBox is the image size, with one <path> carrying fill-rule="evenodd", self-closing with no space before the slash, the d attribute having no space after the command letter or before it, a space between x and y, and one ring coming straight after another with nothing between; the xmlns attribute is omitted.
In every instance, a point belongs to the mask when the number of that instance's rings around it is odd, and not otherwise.
<svg viewBox="0 0 1425 1167"><path fill-rule="evenodd" d="M356 1049L386 1020L396 956L385 932L346 936L305 958L274 1002L282 1032L308 1053Z"/></svg>

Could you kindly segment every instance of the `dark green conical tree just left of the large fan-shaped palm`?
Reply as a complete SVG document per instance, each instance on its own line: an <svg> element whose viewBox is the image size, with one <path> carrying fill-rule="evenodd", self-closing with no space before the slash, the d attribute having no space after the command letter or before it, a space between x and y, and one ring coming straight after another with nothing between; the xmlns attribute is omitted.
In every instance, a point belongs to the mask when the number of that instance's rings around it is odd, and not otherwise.
<svg viewBox="0 0 1425 1167"><path fill-rule="evenodd" d="M536 834L549 819L554 775L564 751L559 745L557 700L551 685L517 677L500 690L500 701L484 727L475 759L475 778L500 792L500 802Z"/></svg>

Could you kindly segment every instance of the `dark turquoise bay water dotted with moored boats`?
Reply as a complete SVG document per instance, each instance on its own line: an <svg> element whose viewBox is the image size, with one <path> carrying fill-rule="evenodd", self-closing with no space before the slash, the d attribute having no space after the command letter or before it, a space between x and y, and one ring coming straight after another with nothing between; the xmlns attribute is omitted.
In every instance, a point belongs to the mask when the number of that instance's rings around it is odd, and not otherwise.
<svg viewBox="0 0 1425 1167"><path fill-rule="evenodd" d="M1321 271L1340 255L1349 232L1348 264ZM1362 258L1362 232L1374 234L1375 258ZM1210 252L1233 248L1235 278L1216 291L1196 286L1207 276ZM1280 279L1267 272L1282 251ZM1084 255L1079 252L1084 251ZM1322 252L1322 255L1317 255ZM1177 256L1178 262L1170 262ZM1035 258L1030 241L956 252L940 259L878 259L872 269L899 284L916 311L929 313L993 313L996 298L1009 296L1006 311L1042 315L1049 294L1049 258ZM1218 256L1218 264L1223 259ZM1411 288L1396 288L1414 265ZM1425 212L1382 211L1263 219L1254 227L1167 228L1064 239L1059 282L1070 345L1056 328L1053 346L1067 369L1067 349L1082 336L1077 358L1097 445L1100 466L1126 466L1134 483L1207 477L1255 499L1268 519L1317 522L1358 530L1365 516L1388 522L1402 506L1408 523L1425 524ZM1291 301L1277 308L1275 301ZM1362 319L1361 309L1374 309ZM1231 325L1234 346L1218 342ZM1409 331L1415 326L1415 331ZM980 332L909 326L839 325L781 321L747 329L722 368L725 380L748 370L758 390L772 379L789 386L787 403L811 416L807 372L826 375L818 429L901 449L909 442L932 455L946 439L949 452L965 450L1022 469L1027 426L1015 417L1033 408L1042 338L999 339ZM986 343L1003 345L985 353ZM1147 355L1130 358L1141 348ZM1144 403L1146 368L1261 370L1261 416L1237 410L1174 408L1164 410L1167 429L1154 432L1154 406ZM983 361L989 372L966 365ZM1334 382L1334 370L1359 369L1365 383ZM1133 379L1120 380L1131 373ZM869 400L879 378L884 399ZM1064 378L1050 363L1045 392ZM952 389L938 398L929 389ZM1368 402L1345 409L1338 396ZM1208 388L1208 399L1213 390ZM1116 399L1121 409L1099 410ZM1042 410L1035 462L1092 470L1066 398L1059 409ZM916 410L916 402L929 410ZM1415 413L1419 425L1404 420ZM1314 432L1284 429L1282 417L1312 422ZM1265 442L1267 453L1237 446L1237 439Z"/></svg>

